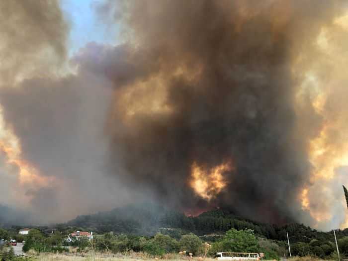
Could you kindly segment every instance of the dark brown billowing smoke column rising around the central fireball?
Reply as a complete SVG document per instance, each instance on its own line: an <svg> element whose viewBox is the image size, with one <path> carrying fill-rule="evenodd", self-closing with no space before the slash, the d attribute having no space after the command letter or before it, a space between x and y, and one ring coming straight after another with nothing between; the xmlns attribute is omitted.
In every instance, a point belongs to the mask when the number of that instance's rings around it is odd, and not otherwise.
<svg viewBox="0 0 348 261"><path fill-rule="evenodd" d="M302 75L294 61L306 59L302 50L339 7L313 3L124 3L116 18L133 38L122 63L106 61L104 70L116 88L112 171L185 209L208 204L292 220L311 169L311 133L296 133Z"/></svg>

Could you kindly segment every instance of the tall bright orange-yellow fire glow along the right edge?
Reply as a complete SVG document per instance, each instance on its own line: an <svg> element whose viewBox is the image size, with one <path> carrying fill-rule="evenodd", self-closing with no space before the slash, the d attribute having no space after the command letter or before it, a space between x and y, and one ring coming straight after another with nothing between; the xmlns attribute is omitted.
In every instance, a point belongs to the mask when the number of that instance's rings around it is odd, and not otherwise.
<svg viewBox="0 0 348 261"><path fill-rule="evenodd" d="M347 32L348 14L337 18L333 26L334 29L339 28L340 32ZM333 219L334 200L340 200L342 212L346 211L343 194L342 199L337 199L331 187L333 180L337 180L335 183L341 188L341 182L344 181L339 181L337 170L348 166L347 117L345 113L340 113L344 111L342 106L345 102L340 99L345 93L341 86L342 82L347 81L342 68L347 66L348 60L347 56L342 55L342 41L338 41L341 33L335 35L332 34L333 31L331 27L323 27L317 39L319 50L325 59L318 56L316 64L325 67L328 66L327 61L330 61L330 77L321 77L321 71L316 72L316 68L312 67L299 88L299 96L302 92L311 93L312 108L322 119L319 132L308 143L308 156L312 167L310 185L305 185L298 196L302 209L308 211L317 223L329 223ZM318 201L313 196L313 192L317 194L315 190L322 191L330 203ZM348 215L345 221L340 222L341 228L347 227Z"/></svg>

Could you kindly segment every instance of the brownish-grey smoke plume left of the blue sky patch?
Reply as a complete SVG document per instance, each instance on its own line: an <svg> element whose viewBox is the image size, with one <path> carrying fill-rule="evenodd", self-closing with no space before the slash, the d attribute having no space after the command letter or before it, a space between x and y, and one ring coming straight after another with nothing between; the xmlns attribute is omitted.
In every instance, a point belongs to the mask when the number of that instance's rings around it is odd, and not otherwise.
<svg viewBox="0 0 348 261"><path fill-rule="evenodd" d="M69 24L58 1L27 0L0 3L1 84L50 75L66 60Z"/></svg>

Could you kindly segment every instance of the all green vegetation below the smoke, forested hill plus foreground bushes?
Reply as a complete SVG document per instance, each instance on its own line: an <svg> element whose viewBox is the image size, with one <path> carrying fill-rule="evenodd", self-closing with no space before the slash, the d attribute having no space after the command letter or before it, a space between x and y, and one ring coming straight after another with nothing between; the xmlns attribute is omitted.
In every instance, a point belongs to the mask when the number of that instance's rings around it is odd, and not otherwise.
<svg viewBox="0 0 348 261"><path fill-rule="evenodd" d="M215 256L216 252L264 253L267 260L288 256L286 231L293 256L335 259L333 232L320 232L301 224L275 226L242 219L229 211L215 209L197 217L159 208L128 206L95 215L80 216L53 228L38 227L27 236L18 235L19 227L0 229L0 239L25 240L24 251L143 252L161 257L169 253ZM93 241L66 242L73 231L94 231ZM54 233L51 233L54 231ZM96 233L95 233L96 232ZM348 229L336 232L343 258L348 257Z"/></svg>

